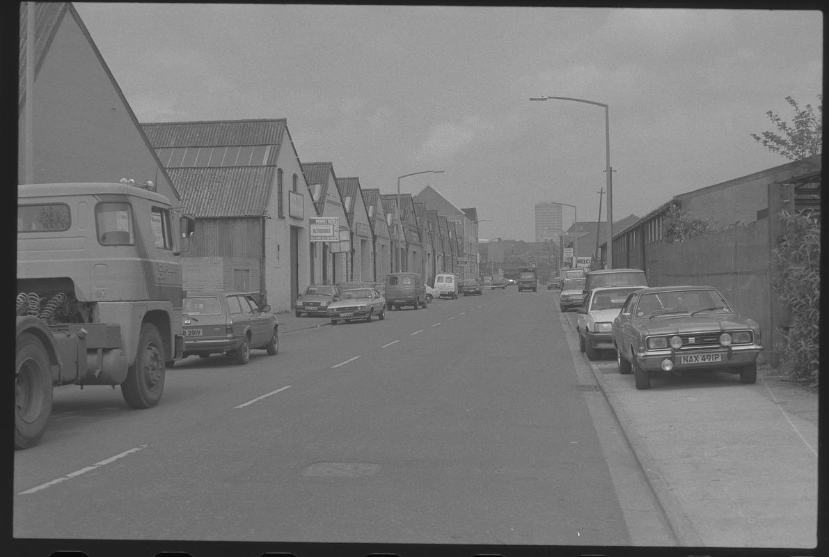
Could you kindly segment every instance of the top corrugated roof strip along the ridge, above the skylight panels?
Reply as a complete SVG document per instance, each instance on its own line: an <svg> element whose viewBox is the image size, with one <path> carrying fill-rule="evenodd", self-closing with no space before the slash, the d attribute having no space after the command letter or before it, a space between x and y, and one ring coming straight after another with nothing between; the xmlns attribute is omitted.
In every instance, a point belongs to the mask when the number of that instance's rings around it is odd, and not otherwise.
<svg viewBox="0 0 829 557"><path fill-rule="evenodd" d="M150 122L141 124L153 148L279 145L285 119L212 120L201 122ZM269 164L275 164L272 150ZM270 157L269 157L270 158Z"/></svg>

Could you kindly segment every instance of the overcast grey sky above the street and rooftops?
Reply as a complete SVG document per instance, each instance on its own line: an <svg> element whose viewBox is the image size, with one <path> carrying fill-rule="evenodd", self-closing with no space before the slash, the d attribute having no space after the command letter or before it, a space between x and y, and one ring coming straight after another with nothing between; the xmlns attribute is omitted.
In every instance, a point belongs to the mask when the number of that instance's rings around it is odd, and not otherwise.
<svg viewBox="0 0 829 557"><path fill-rule="evenodd" d="M140 122L284 118L300 161L383 193L444 170L401 191L476 207L481 238L534 241L543 201L598 217L604 109L531 96L608 104L613 220L788 162L749 134L821 104L817 11L75 7Z"/></svg>

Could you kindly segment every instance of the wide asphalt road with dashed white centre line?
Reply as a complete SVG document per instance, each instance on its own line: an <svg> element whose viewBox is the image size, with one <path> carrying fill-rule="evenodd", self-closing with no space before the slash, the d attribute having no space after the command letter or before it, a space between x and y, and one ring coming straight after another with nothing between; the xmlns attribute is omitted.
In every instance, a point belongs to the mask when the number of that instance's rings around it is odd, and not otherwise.
<svg viewBox="0 0 829 557"><path fill-rule="evenodd" d="M487 290L178 362L162 403L62 387L16 537L671 545L555 294Z"/></svg>

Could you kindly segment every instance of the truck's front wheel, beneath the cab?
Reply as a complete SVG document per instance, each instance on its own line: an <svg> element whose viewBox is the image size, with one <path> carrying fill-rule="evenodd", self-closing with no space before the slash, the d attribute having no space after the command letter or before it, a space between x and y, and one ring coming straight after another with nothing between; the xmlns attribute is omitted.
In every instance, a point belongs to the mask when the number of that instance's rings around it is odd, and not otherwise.
<svg viewBox="0 0 829 557"><path fill-rule="evenodd" d="M164 345L153 323L141 325L135 363L129 366L121 395L130 408L152 408L164 390Z"/></svg>

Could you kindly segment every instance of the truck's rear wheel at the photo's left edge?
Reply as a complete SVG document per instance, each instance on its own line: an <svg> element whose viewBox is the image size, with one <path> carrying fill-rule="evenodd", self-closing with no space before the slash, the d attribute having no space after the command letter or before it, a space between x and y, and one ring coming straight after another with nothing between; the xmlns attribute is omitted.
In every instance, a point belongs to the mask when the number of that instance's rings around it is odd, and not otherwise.
<svg viewBox="0 0 829 557"><path fill-rule="evenodd" d="M46 347L36 336L17 337L14 382L14 448L34 447L51 414L51 368Z"/></svg>

